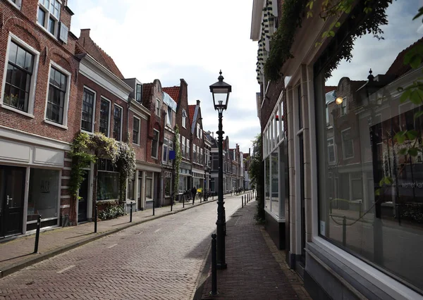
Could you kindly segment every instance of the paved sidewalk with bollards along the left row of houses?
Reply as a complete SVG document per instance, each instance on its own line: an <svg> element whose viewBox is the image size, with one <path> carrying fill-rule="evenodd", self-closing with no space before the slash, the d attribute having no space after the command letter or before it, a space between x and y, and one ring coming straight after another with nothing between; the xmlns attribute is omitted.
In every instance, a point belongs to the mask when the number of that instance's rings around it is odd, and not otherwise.
<svg viewBox="0 0 423 300"><path fill-rule="evenodd" d="M228 195L225 195L228 197ZM121 231L125 228L147 222L156 218L161 218L166 215L185 211L199 205L214 203L216 204L217 197L209 198L209 201L200 200L192 202L185 202L185 208L182 203L171 206L164 206L155 208L155 215L153 210L133 212L133 223L129 223L130 215L123 215L113 220L99 221L97 223L97 233L94 233L94 222L84 223L72 227L59 227L54 230L41 230L39 235L38 254L33 254L35 245L35 234L17 237L15 239L0 242L0 278L11 273L25 268L28 265L38 263L44 259L61 254L65 251L71 250L75 247L81 246L88 242L94 241L106 235L111 235L115 232ZM1 241L1 240L0 240Z"/></svg>

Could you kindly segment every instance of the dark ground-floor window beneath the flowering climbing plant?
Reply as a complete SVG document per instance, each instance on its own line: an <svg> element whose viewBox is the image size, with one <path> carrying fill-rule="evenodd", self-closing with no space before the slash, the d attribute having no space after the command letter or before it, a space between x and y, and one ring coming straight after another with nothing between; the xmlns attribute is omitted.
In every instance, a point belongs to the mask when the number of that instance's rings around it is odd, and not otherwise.
<svg viewBox="0 0 423 300"><path fill-rule="evenodd" d="M97 201L119 198L119 173L109 159L99 159L97 163Z"/></svg>

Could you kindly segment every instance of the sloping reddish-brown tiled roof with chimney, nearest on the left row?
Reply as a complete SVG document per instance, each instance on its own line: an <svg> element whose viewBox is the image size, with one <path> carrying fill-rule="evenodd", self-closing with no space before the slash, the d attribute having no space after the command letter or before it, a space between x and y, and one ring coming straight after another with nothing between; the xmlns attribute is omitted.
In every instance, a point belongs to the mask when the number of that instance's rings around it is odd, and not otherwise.
<svg viewBox="0 0 423 300"><path fill-rule="evenodd" d="M98 61L105 68L109 69L111 73L114 73L119 79L123 79L121 70L111 58L99 45L97 45L90 37L89 29L82 29L80 37L78 39L78 47L75 47L75 52L90 54L96 61Z"/></svg>

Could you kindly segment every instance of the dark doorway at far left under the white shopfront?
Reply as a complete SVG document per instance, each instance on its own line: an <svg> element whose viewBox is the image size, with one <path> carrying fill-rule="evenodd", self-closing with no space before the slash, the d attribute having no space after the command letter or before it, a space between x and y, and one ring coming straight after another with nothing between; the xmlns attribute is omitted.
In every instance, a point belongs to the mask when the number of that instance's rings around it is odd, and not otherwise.
<svg viewBox="0 0 423 300"><path fill-rule="evenodd" d="M0 238L22 233L25 174L26 168L0 165Z"/></svg>

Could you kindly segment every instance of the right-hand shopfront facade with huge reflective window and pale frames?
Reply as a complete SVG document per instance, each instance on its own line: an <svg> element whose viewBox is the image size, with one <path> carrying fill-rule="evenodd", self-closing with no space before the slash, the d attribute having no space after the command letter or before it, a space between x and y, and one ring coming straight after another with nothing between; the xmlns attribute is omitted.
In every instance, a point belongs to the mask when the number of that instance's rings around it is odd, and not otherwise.
<svg viewBox="0 0 423 300"><path fill-rule="evenodd" d="M266 4L254 1L252 36ZM281 78L259 72L266 213L285 213L287 261L313 299L423 299L421 3L357 1L327 20L320 4L294 28ZM355 39L370 24L384 39Z"/></svg>

